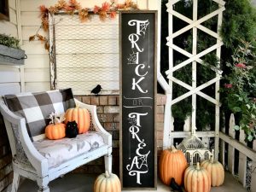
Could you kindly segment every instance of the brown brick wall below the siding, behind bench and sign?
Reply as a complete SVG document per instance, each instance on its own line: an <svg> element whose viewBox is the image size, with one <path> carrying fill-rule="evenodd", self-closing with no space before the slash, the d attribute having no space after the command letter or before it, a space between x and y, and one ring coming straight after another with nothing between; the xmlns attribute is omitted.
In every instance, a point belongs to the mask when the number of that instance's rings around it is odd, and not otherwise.
<svg viewBox="0 0 256 192"><path fill-rule="evenodd" d="M102 126L113 136L113 172L119 174L119 96L76 96L84 103L96 105L97 113ZM164 105L166 96L157 96L157 148L158 154L163 145ZM11 166L11 151L9 140L3 125L3 117L0 114L0 192L6 192L12 183L13 172ZM87 165L81 166L74 172L102 173L104 172L104 160L100 158Z"/></svg>

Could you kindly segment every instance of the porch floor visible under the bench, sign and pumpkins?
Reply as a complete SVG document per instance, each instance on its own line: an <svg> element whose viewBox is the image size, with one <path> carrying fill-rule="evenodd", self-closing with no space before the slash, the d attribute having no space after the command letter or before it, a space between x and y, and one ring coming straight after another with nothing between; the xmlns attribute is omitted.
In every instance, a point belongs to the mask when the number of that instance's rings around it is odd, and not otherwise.
<svg viewBox="0 0 256 192"><path fill-rule="evenodd" d="M57 178L53 182L49 183L50 192L92 192L93 183L96 179L96 175L93 174L67 174L65 177ZM20 184L18 192L35 192L37 191L36 182L26 179ZM132 190L125 192L145 192L145 190ZM158 181L157 192L171 191L171 188L165 186ZM225 172L224 184L220 187L211 189L211 192L247 192L243 189L241 183L238 183L229 172Z"/></svg>

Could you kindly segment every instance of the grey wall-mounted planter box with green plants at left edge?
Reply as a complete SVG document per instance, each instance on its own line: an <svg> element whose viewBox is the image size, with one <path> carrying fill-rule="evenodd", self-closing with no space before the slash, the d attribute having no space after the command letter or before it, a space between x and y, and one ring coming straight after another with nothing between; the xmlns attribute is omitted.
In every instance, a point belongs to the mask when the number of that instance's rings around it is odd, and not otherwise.
<svg viewBox="0 0 256 192"><path fill-rule="evenodd" d="M26 55L19 42L17 38L0 34L0 64L24 65Z"/></svg>

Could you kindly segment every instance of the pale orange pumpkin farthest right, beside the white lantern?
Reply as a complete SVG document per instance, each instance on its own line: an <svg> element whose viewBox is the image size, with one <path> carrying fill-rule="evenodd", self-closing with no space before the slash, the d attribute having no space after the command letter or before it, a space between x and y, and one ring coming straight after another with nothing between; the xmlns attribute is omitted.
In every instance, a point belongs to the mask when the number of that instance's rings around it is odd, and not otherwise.
<svg viewBox="0 0 256 192"><path fill-rule="evenodd" d="M224 183L224 167L218 160L203 160L201 166L204 167L211 176L212 187L218 187Z"/></svg>

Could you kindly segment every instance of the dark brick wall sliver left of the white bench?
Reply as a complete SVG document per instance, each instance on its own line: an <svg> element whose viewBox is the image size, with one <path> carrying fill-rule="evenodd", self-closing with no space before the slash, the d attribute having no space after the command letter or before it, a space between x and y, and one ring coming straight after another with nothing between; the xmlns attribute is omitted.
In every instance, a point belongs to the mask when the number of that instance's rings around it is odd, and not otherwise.
<svg viewBox="0 0 256 192"><path fill-rule="evenodd" d="M12 156L9 140L3 124L3 116L0 114L0 191L7 191L13 180L13 169L11 165Z"/></svg>

